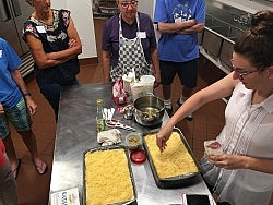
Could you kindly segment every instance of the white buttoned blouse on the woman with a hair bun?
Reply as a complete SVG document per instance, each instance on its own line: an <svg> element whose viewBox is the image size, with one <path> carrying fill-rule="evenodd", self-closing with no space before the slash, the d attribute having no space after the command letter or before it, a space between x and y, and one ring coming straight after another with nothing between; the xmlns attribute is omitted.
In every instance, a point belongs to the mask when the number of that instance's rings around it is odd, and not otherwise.
<svg viewBox="0 0 273 205"><path fill-rule="evenodd" d="M228 154L273 160L273 95L251 105L253 91L239 83L227 104L226 125L217 140ZM269 204L273 174L249 169L221 169L216 192L230 204Z"/></svg>

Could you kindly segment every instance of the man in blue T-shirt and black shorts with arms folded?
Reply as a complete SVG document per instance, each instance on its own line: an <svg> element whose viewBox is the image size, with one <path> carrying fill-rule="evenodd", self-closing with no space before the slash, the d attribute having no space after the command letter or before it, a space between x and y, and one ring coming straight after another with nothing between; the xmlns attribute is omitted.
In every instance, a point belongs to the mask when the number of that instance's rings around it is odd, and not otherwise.
<svg viewBox="0 0 273 205"><path fill-rule="evenodd" d="M154 22L162 34L158 56L166 111L173 113L171 83L176 73L183 86L181 106L197 86L199 45L198 33L205 22L204 0L157 0ZM192 114L188 116L192 119Z"/></svg>

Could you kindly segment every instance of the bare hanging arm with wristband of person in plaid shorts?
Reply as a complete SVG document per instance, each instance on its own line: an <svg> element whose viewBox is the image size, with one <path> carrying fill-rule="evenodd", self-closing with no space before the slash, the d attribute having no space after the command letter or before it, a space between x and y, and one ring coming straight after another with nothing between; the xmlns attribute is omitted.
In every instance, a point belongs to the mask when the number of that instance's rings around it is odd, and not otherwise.
<svg viewBox="0 0 273 205"><path fill-rule="evenodd" d="M29 110L31 114L34 114L36 112L37 109L37 105L34 102L33 98L31 95L28 95L28 91L26 88L25 82L20 73L19 70L13 70L11 72L12 79L14 80L14 82L17 84L19 88L21 89L22 94L27 94L24 95L27 108Z"/></svg>

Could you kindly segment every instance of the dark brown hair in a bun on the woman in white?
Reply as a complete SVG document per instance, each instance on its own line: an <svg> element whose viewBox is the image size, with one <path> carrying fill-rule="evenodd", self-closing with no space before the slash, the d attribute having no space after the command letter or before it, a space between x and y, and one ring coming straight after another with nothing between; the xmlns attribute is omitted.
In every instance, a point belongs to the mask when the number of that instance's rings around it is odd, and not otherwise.
<svg viewBox="0 0 273 205"><path fill-rule="evenodd" d="M251 28L240 36L234 51L248 58L258 69L273 64L273 12L257 12L251 20Z"/></svg>

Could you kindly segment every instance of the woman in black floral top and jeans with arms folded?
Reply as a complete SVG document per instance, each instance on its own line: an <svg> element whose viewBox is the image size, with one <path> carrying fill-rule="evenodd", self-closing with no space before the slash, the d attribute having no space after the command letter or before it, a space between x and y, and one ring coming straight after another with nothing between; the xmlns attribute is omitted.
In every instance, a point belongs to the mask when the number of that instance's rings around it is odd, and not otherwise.
<svg viewBox="0 0 273 205"><path fill-rule="evenodd" d="M26 0L35 8L26 20L23 39L34 58L36 81L58 119L60 89L79 84L78 55L82 45L70 11L50 9L50 0Z"/></svg>

